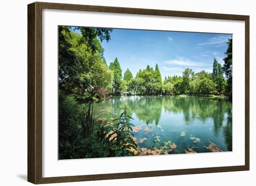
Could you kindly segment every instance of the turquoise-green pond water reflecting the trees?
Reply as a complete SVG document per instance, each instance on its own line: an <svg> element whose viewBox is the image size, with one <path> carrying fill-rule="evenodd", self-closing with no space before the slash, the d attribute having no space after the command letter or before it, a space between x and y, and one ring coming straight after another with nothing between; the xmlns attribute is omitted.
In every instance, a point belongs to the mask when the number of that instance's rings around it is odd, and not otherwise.
<svg viewBox="0 0 256 186"><path fill-rule="evenodd" d="M213 100L208 97L178 96L114 96L94 104L96 118L117 118L124 105L134 120L135 126L142 129L134 133L140 148L154 145L156 136L161 141L171 141L177 145L175 154L184 153L193 148L197 153L210 152L203 146L209 141L215 143L222 151L232 151L232 103L225 100ZM147 132L145 128L152 131ZM185 136L181 136L181 132ZM193 142L191 136L201 139ZM158 137L159 138L159 137Z"/></svg>

